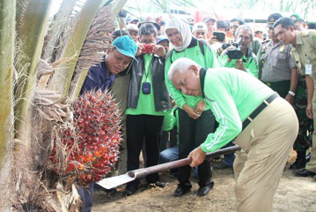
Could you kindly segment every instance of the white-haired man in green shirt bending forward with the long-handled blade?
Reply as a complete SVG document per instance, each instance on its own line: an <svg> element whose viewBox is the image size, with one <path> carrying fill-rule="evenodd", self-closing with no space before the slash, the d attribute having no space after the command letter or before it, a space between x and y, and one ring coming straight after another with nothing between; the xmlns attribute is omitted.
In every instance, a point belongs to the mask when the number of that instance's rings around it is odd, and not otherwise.
<svg viewBox="0 0 316 212"><path fill-rule="evenodd" d="M188 58L173 62L168 79L191 96L202 95L219 123L191 151L191 167L235 138L242 150L234 161L237 212L272 211L273 196L298 133L293 107L271 88L234 68L199 66Z"/></svg>

